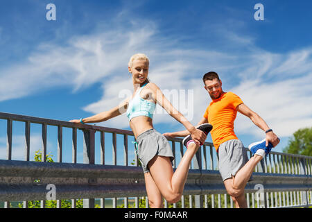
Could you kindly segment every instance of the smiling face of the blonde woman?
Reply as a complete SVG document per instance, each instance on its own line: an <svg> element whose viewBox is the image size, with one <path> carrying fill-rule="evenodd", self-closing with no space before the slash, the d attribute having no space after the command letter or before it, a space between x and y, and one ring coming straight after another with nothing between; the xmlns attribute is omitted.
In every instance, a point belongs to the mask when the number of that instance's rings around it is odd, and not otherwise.
<svg viewBox="0 0 312 222"><path fill-rule="evenodd" d="M143 84L148 77L148 60L136 59L132 62L132 67L128 67L132 74L132 81L134 84Z"/></svg>

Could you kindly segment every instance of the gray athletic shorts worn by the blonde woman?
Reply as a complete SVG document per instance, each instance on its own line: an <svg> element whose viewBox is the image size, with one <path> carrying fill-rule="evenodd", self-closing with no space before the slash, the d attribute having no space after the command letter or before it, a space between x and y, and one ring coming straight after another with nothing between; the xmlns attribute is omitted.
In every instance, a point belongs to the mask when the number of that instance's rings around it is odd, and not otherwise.
<svg viewBox="0 0 312 222"><path fill-rule="evenodd" d="M171 164L174 160L173 152L168 140L155 129L147 130L137 137L137 155L144 173L149 172L148 162L150 162L155 155L170 157Z"/></svg>

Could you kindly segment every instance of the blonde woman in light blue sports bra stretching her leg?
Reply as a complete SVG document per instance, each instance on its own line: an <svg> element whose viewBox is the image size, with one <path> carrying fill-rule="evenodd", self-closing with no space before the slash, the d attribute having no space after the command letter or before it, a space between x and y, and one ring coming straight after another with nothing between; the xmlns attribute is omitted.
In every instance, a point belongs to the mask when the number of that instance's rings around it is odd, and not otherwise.
<svg viewBox="0 0 312 222"><path fill-rule="evenodd" d="M137 155L144 170L146 192L150 207L163 207L162 196L168 203L180 200L189 165L200 144L205 142L211 128L195 128L189 121L164 97L162 91L148 80L149 60L144 54L138 53L130 58L128 70L132 74L134 93L120 105L109 111L101 112L92 117L73 119L75 123L96 123L106 121L126 112L130 128L137 141ZM159 104L174 119L183 124L191 135L193 142L188 145L175 173L171 146L164 135L153 127L155 105ZM209 124L207 124L209 125ZM211 126L211 125L209 125Z"/></svg>

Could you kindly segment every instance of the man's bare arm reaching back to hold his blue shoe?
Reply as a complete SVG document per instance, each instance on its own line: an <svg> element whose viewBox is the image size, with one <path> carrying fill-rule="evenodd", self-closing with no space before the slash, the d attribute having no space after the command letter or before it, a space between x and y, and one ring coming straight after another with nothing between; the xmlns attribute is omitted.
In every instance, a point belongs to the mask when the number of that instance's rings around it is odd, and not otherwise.
<svg viewBox="0 0 312 222"><path fill-rule="evenodd" d="M250 108L248 108L248 106L245 105L244 103L238 105L236 110L241 112L241 114L245 115L246 117L249 117L251 121L256 126L261 128L261 130L263 130L264 132L270 129L266 121L264 121L256 112L250 110ZM273 145L273 147L275 147L277 146L277 144L279 144L279 138L277 137L277 135L275 135L275 133L271 131L269 133L266 133L266 146L268 146L268 142L270 142Z"/></svg>

